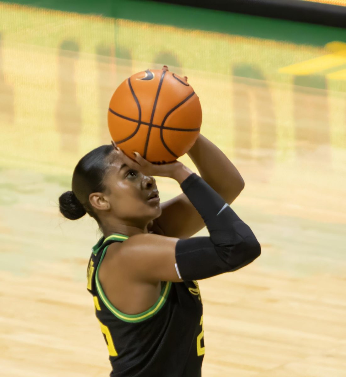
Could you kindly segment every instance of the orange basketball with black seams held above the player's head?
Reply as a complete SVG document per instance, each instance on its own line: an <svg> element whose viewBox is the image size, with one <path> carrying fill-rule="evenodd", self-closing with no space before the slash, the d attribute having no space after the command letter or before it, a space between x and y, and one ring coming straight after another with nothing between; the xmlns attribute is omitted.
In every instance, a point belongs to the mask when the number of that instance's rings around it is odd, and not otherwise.
<svg viewBox="0 0 346 377"><path fill-rule="evenodd" d="M153 164L173 162L188 152L201 123L201 104L187 77L167 66L127 78L109 103L108 127L117 146L130 158L135 150Z"/></svg>

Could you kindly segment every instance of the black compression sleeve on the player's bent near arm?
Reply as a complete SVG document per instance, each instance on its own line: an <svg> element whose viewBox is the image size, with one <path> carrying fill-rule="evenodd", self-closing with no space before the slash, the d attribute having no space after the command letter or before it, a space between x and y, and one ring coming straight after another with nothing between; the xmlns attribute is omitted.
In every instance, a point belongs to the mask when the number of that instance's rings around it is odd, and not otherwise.
<svg viewBox="0 0 346 377"><path fill-rule="evenodd" d="M207 182L192 173L180 186L202 216L210 234L210 237L192 237L177 242L177 272L183 280L205 279L235 271L260 255L260 244L250 227Z"/></svg>

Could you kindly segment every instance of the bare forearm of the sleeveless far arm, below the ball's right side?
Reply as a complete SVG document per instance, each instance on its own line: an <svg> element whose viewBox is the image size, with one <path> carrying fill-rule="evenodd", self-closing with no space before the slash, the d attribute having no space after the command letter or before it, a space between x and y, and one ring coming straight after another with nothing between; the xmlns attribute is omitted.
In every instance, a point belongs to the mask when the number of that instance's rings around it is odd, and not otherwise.
<svg viewBox="0 0 346 377"><path fill-rule="evenodd" d="M244 188L244 180L227 156L205 136L199 134L187 152L201 177L228 203Z"/></svg>

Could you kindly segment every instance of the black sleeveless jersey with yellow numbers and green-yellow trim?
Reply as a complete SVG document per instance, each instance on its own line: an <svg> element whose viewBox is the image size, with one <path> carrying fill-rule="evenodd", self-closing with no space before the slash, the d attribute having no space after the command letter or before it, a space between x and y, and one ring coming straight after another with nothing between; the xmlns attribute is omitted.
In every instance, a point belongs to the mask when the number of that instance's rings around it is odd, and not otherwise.
<svg viewBox="0 0 346 377"><path fill-rule="evenodd" d="M87 290L112 365L110 377L201 377L203 306L196 280L161 282L158 300L139 314L122 313L104 294L98 268L108 245L127 238L119 233L102 237L92 248L87 269Z"/></svg>

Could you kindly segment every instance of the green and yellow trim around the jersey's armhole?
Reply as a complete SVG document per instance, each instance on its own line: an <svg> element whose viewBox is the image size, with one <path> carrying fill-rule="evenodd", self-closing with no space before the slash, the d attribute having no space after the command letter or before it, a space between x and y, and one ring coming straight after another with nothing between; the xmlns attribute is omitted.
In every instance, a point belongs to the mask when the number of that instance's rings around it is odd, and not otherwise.
<svg viewBox="0 0 346 377"><path fill-rule="evenodd" d="M155 314L158 313L158 311L163 307L164 303L166 302L168 294L170 293L170 290L171 290L172 282L165 282L165 284L162 286L158 300L148 310L139 314L122 313L120 310L116 309L112 305L112 303L110 303L110 301L107 299L106 294L104 294L104 291L101 287L100 280L98 280L98 269L100 268L101 262L106 254L107 248L108 246L106 246L103 250L100 262L96 268L96 273L95 273L96 290L102 302L104 303L104 305L106 305L107 309L112 314L114 314L118 319L124 322L130 322L130 323L142 322L142 321L145 321L146 319L149 319L150 317L155 316Z"/></svg>

